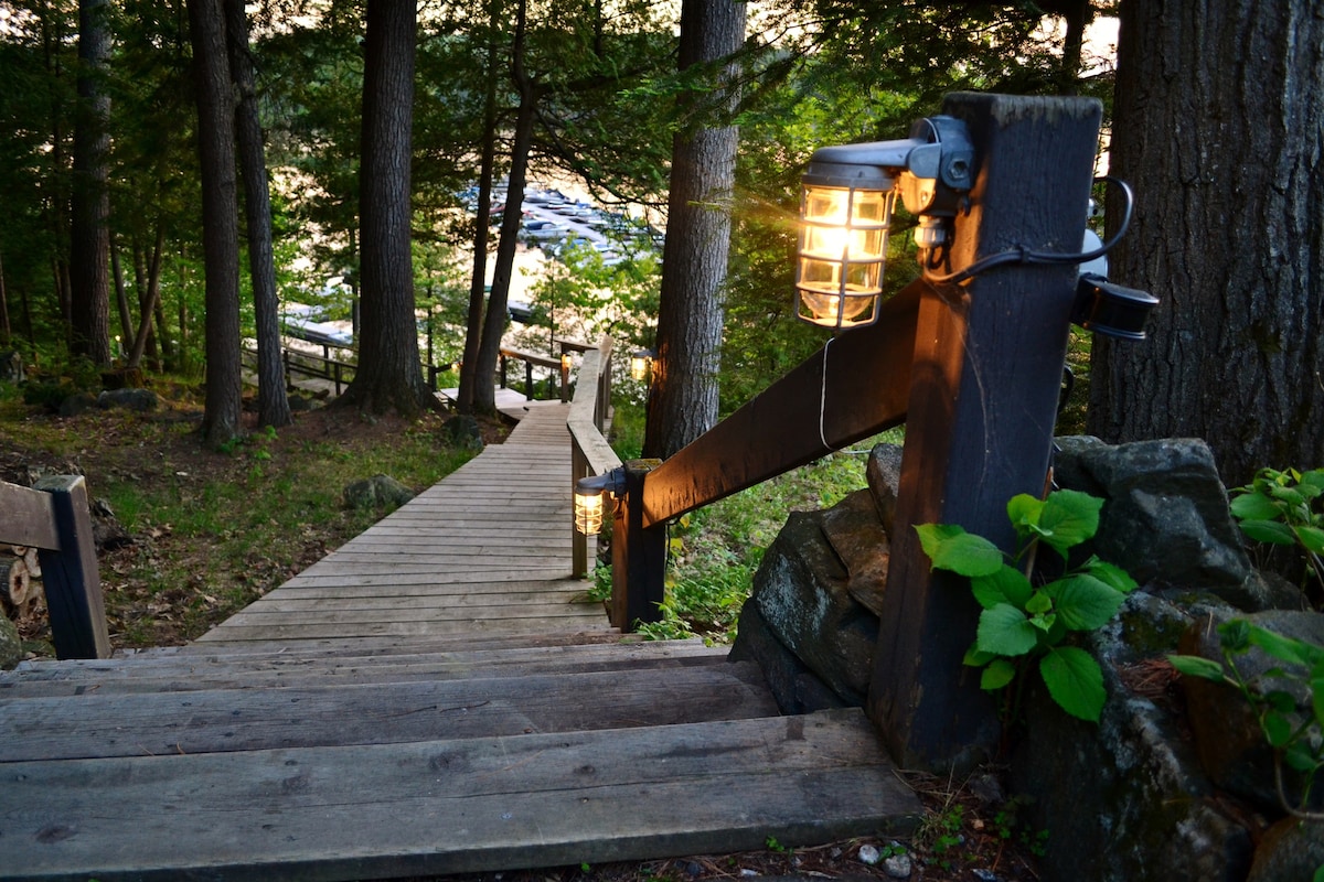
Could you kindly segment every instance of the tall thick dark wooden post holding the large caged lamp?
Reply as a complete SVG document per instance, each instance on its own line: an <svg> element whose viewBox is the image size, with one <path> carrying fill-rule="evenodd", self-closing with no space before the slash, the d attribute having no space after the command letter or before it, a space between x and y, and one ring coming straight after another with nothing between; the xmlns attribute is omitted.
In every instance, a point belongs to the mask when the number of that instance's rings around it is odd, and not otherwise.
<svg viewBox="0 0 1324 882"><path fill-rule="evenodd" d="M1102 108L1084 98L949 95L976 148L951 270L1009 249L1080 250ZM1006 502L1041 495L1066 357L1074 264L1013 263L925 294L919 313L891 569L869 711L906 768L969 768L998 727L961 664L978 606L931 573L912 529L960 524L1005 550Z"/></svg>

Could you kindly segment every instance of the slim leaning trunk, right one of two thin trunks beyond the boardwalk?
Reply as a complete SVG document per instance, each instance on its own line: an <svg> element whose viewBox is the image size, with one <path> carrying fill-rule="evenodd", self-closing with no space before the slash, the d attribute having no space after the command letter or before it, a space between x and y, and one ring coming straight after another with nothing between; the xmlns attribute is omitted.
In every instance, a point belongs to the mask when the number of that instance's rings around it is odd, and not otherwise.
<svg viewBox="0 0 1324 882"><path fill-rule="evenodd" d="M538 108L538 86L524 69L524 30L528 13L527 0L519 1L515 20L515 40L511 48L511 79L519 91L519 111L515 115L515 136L510 148L510 185L506 206L524 202L524 182L528 175L528 151L534 143L534 115ZM496 245L496 266L493 270L493 291L487 298L487 317L483 321L482 345L474 365L474 410L481 414L496 413L496 389L491 382L500 357L500 339L510 315L510 276L515 267L515 245L519 238L519 209L507 210L500 220L500 241Z"/></svg>

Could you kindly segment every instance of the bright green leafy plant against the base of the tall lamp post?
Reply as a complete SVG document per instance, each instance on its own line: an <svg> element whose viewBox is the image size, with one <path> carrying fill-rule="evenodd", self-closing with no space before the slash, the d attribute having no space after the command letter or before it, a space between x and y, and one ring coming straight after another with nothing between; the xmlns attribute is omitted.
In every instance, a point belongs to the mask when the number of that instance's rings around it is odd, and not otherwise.
<svg viewBox="0 0 1324 882"><path fill-rule="evenodd" d="M1103 672L1088 652L1066 645L1066 640L1074 631L1107 624L1136 582L1098 555L1042 584L1030 575L1039 546L1055 551L1066 566L1071 549L1098 532L1100 508L1103 500L1078 491L1057 491L1043 500L1027 493L1013 497L1008 517L1019 547L1012 562L993 542L955 524L915 528L935 570L970 579L982 612L965 664L984 668L981 689L1010 688L1004 721L1016 718L1025 684L1021 674L1037 661L1058 706L1072 717L1099 722L1106 698Z"/></svg>

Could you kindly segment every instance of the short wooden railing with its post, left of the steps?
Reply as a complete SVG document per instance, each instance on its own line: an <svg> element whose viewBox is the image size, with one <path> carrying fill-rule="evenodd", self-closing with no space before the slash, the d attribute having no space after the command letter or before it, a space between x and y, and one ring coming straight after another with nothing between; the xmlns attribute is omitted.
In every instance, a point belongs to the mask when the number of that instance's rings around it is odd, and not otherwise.
<svg viewBox="0 0 1324 882"><path fill-rule="evenodd" d="M0 481L0 541L36 547L60 659L106 659L110 636L82 475L42 477L33 489Z"/></svg>

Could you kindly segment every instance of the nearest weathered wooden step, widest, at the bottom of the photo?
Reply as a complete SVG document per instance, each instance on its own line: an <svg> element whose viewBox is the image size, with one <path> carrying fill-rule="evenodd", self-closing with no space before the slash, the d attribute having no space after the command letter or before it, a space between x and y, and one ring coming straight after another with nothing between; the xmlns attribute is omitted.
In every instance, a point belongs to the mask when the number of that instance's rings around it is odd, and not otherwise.
<svg viewBox="0 0 1324 882"><path fill-rule="evenodd" d="M3 767L3 879L365 879L900 836L858 710Z"/></svg>

